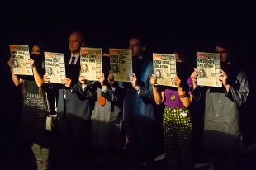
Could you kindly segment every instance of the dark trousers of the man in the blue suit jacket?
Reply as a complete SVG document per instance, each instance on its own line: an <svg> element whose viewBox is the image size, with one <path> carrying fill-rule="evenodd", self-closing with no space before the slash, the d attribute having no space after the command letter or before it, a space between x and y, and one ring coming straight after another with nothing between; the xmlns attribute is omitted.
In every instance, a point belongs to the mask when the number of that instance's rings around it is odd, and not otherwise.
<svg viewBox="0 0 256 170"><path fill-rule="evenodd" d="M133 169L155 169L155 126L126 125L126 132L130 143L130 153Z"/></svg>

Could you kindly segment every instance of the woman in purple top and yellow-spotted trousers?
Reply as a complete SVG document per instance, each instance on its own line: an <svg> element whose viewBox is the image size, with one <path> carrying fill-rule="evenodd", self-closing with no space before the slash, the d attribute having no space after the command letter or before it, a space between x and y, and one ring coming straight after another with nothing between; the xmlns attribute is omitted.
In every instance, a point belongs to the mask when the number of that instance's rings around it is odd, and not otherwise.
<svg viewBox="0 0 256 170"><path fill-rule="evenodd" d="M192 122L187 109L192 102L192 94L187 83L182 80L189 78L183 71L184 64L177 63L178 73L182 77L173 78L177 87L156 86L157 78L153 74L151 84L156 104L164 102L164 145L168 169L193 169L192 161ZM179 70L183 70L182 72ZM187 79L186 79L187 80Z"/></svg>

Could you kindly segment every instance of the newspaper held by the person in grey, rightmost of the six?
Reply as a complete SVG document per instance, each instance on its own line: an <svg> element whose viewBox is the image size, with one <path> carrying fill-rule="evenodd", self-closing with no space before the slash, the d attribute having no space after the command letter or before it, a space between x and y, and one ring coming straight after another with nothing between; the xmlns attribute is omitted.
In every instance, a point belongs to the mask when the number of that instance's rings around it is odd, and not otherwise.
<svg viewBox="0 0 256 170"><path fill-rule="evenodd" d="M197 52L197 84L199 86L222 87L220 76L220 54Z"/></svg>

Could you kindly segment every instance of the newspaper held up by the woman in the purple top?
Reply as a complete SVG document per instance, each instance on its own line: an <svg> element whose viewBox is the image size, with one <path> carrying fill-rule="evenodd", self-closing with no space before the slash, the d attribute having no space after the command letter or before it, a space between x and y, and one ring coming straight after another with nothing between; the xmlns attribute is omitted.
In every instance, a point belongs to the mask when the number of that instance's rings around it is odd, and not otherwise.
<svg viewBox="0 0 256 170"><path fill-rule="evenodd" d="M153 53L153 68L157 85L176 87L173 83L173 78L177 74L175 54Z"/></svg>

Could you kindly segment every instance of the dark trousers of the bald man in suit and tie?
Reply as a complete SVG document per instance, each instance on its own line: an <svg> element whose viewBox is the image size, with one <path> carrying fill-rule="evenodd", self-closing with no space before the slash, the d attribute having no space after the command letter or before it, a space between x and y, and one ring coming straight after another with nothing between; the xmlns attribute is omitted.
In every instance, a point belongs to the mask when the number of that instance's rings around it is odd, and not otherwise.
<svg viewBox="0 0 256 170"><path fill-rule="evenodd" d="M90 154L90 121L67 114L59 121L61 168L86 169Z"/></svg>

